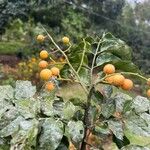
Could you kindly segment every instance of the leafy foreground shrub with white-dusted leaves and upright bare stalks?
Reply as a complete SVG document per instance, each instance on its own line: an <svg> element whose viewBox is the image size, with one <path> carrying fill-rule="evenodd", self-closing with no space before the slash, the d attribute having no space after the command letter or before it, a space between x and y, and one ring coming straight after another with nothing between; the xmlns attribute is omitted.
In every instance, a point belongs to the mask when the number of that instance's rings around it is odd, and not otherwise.
<svg viewBox="0 0 150 150"><path fill-rule="evenodd" d="M0 111L1 147L102 149L104 141L111 137L111 149L149 149L150 101L122 89L124 82L130 81L131 85L131 77L142 79L146 85L149 80L131 62L131 50L126 43L107 33L97 39L83 38L79 44L70 43L64 49L49 33L47 37L56 46L56 52L64 56L65 64L57 76L44 81L46 89L42 88L40 93L35 93L35 87L28 81L17 81L15 89L0 88L3 91L0 100L4 104ZM92 55L91 63L89 55ZM112 64L115 71L105 74L103 68L107 64ZM46 69L56 65L53 60L53 65ZM111 83L110 77L113 77ZM80 84L86 100L81 101L75 95L66 101L57 95L60 81Z"/></svg>

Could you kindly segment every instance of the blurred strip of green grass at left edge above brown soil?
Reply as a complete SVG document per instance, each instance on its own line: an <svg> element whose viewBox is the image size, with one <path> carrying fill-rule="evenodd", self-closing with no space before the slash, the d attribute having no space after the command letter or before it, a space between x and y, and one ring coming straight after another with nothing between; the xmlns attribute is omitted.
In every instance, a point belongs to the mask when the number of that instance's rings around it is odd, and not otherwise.
<svg viewBox="0 0 150 150"><path fill-rule="evenodd" d="M16 54L25 44L18 41L0 42L0 54L1 55L13 55Z"/></svg>

